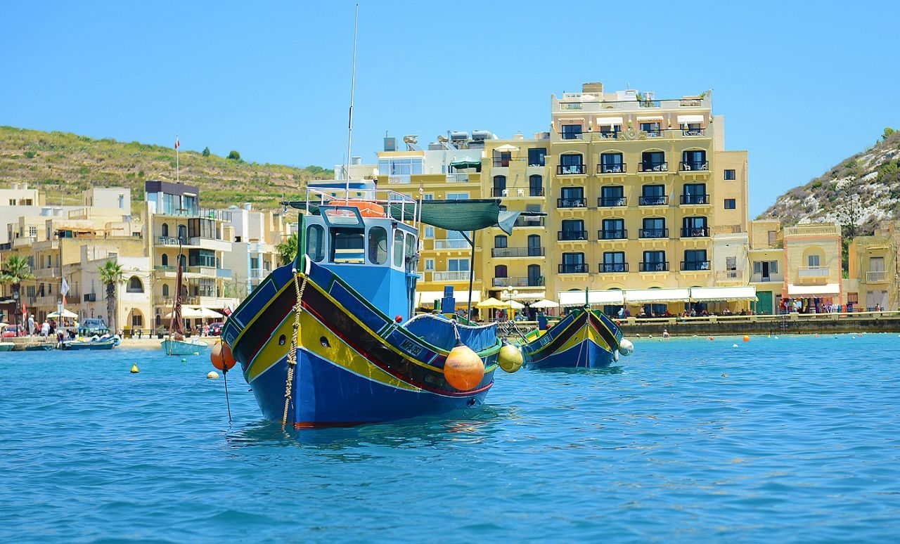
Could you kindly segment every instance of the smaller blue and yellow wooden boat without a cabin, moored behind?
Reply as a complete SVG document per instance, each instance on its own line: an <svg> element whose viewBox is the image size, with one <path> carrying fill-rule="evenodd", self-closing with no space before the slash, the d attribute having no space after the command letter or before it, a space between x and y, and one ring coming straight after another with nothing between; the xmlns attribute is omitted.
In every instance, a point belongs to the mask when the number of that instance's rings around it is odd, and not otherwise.
<svg viewBox="0 0 900 544"><path fill-rule="evenodd" d="M601 312L576 308L549 327L538 321L536 331L518 341L526 367L534 369L602 369L619 354L630 355L634 345Z"/></svg>

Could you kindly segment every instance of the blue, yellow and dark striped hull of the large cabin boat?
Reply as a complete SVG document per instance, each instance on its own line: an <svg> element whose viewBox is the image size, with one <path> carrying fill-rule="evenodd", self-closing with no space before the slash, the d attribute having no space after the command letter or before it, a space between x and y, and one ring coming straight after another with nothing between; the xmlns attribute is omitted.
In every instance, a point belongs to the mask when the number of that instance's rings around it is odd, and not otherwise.
<svg viewBox="0 0 900 544"><path fill-rule="evenodd" d="M471 390L457 390L443 373L452 346L441 349L422 341L359 299L337 276L320 273L326 278L311 277L304 290L286 423L302 428L386 422L484 402L499 342L479 352L485 365L482 381ZM229 317L222 337L263 415L281 422L296 296L290 270L275 271L269 281L268 287L257 288L263 299L248 298L247 306Z"/></svg>

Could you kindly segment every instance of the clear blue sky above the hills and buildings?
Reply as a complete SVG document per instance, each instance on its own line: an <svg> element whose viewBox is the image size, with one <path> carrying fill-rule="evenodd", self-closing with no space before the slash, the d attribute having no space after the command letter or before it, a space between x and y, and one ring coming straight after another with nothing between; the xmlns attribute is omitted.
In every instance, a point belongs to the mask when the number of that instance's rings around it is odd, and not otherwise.
<svg viewBox="0 0 900 544"><path fill-rule="evenodd" d="M582 81L658 98L714 90L750 151L751 214L900 128L896 3L360 5L354 155L385 130L503 137ZM0 14L0 124L342 162L353 3L14 2Z"/></svg>

